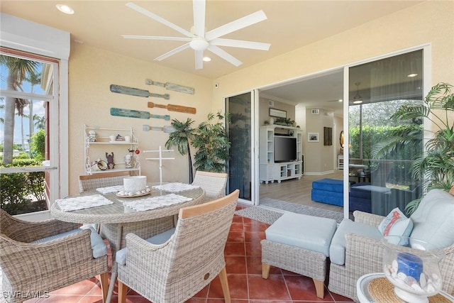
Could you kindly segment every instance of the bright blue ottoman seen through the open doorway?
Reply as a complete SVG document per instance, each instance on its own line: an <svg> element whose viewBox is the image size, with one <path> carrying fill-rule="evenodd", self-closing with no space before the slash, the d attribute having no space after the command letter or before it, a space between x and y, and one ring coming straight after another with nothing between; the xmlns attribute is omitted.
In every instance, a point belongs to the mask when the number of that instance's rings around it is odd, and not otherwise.
<svg viewBox="0 0 454 303"><path fill-rule="evenodd" d="M343 206L343 180L321 179L312 182L311 199L337 206Z"/></svg>

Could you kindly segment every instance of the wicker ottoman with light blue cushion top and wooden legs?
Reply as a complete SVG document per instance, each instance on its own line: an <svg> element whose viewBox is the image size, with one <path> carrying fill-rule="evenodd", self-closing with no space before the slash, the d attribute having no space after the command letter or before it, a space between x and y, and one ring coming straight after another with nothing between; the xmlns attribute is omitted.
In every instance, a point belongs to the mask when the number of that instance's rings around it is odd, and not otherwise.
<svg viewBox="0 0 454 303"><path fill-rule="evenodd" d="M285 213L265 231L262 244L262 277L270 266L296 272L314 280L317 297L325 294L329 246L336 220Z"/></svg>

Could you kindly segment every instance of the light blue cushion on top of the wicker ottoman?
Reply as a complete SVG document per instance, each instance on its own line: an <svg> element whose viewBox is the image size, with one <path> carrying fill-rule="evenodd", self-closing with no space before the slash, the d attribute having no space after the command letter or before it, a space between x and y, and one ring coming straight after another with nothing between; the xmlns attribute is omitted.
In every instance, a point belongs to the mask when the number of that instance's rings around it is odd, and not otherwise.
<svg viewBox="0 0 454 303"><path fill-rule="evenodd" d="M268 241L296 246L329 256L336 220L285 213L265 230Z"/></svg>

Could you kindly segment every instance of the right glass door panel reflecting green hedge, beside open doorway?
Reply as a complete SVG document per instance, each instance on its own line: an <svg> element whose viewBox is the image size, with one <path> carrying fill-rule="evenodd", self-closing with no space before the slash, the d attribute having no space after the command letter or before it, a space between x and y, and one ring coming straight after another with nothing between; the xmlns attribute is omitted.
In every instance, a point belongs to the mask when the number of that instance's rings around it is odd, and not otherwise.
<svg viewBox="0 0 454 303"><path fill-rule="evenodd" d="M423 151L423 121L394 121L402 104L423 100L423 50L349 69L348 178L350 211L387 215L404 211L421 184L410 166ZM392 145L412 136L412 144Z"/></svg>

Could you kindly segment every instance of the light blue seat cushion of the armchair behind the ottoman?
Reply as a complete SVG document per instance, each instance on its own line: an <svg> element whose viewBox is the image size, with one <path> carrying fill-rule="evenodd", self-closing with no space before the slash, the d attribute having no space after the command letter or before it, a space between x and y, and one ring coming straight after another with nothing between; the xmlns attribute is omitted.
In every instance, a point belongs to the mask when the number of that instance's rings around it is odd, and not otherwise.
<svg viewBox="0 0 454 303"><path fill-rule="evenodd" d="M339 224L336 233L334 233L331 246L329 247L329 258L331 262L338 265L345 263L345 235L347 233L355 233L360 236L367 236L380 240L383 236L382 233L375 226L353 222L350 219L343 219Z"/></svg>

